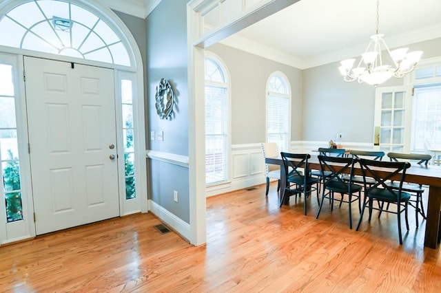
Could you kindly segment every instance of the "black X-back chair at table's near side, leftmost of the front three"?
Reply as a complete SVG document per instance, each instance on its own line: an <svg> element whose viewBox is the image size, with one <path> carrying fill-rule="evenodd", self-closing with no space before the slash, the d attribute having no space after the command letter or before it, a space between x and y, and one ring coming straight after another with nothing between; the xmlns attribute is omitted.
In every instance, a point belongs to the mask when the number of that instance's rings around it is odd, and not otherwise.
<svg viewBox="0 0 441 293"><path fill-rule="evenodd" d="M283 193L282 200L280 202L280 207L285 202L286 197L291 197L291 195L297 195L301 197L303 194L303 202L305 215L307 215L307 197L312 193L312 191L317 190L318 179L311 177L309 171L308 160L311 155L308 153L285 153L281 152L280 156L283 160L283 168L285 170L285 191ZM317 194L317 201L319 201Z"/></svg>

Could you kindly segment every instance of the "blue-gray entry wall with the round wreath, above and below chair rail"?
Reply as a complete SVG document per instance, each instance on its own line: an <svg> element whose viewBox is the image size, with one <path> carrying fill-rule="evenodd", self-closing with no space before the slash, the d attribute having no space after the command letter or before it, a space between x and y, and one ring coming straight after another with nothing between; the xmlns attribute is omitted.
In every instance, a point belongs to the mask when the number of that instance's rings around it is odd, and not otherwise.
<svg viewBox="0 0 441 293"><path fill-rule="evenodd" d="M170 9L172 8L172 9ZM147 17L147 147L176 155L188 155L187 1L163 0ZM174 89L176 105L170 120L156 113L156 86L161 78ZM163 131L164 140L150 141L150 131ZM150 162L150 199L189 223L188 169L158 160ZM178 191L178 202L173 201Z"/></svg>

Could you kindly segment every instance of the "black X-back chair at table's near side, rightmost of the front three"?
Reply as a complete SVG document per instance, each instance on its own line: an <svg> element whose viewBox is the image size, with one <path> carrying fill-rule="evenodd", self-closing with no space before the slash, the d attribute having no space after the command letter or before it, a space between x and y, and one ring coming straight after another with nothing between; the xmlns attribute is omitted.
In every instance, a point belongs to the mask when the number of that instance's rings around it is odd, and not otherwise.
<svg viewBox="0 0 441 293"><path fill-rule="evenodd" d="M379 210L380 213L387 212L397 215L398 220L398 237L400 244L402 244L401 233L401 214L404 212L404 219L406 221L406 228L409 230L409 220L407 219L407 206L411 195L402 190L402 184L406 176L406 170L409 169L411 164L409 162L387 162L360 159L361 170L363 178L371 177L376 180L376 184L369 186L365 183L364 193L365 199L363 200L363 207L358 219L356 230L360 228L360 224L365 213L365 208L369 204L369 221L371 221L372 210ZM381 170L379 170L381 169ZM384 172L387 175L384 175ZM399 175L400 180L396 180L398 188L392 188L389 185L389 181L396 175ZM373 201L380 202L378 208L373 206ZM384 209L384 203L395 204L396 210Z"/></svg>

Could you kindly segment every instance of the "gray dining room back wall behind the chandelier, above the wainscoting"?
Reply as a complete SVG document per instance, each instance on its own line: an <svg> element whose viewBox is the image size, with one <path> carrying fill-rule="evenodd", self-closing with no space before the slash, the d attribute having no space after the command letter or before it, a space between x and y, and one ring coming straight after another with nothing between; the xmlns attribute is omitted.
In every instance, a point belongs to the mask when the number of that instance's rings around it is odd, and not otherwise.
<svg viewBox="0 0 441 293"><path fill-rule="evenodd" d="M424 51L422 58L441 56L441 38L407 47L409 51ZM346 83L338 66L330 63L303 71L302 140L328 141L341 132L343 143L373 143L375 87L356 81ZM391 78L381 86L403 85L403 81Z"/></svg>

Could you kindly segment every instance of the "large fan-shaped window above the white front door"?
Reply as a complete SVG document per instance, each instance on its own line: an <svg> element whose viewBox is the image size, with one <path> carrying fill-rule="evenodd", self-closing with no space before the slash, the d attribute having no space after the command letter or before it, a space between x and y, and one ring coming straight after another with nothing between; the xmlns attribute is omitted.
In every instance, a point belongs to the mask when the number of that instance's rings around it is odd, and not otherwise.
<svg viewBox="0 0 441 293"><path fill-rule="evenodd" d="M100 17L74 3L34 0L0 20L0 45L130 66L119 36Z"/></svg>

